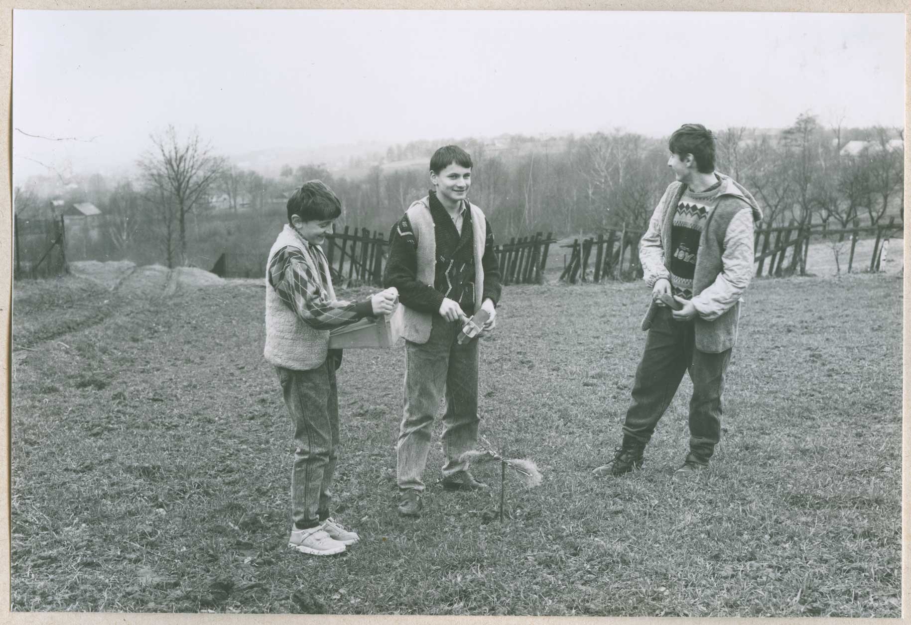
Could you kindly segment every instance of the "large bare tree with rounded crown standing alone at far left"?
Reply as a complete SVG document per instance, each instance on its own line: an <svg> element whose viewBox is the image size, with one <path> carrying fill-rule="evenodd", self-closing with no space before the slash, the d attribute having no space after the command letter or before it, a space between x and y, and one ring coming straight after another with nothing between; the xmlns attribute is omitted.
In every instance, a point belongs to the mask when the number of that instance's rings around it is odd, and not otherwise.
<svg viewBox="0 0 911 625"><path fill-rule="evenodd" d="M163 135L152 135L153 148L139 159L138 166L145 177L150 202L163 203L157 213L177 222L179 233L179 260L187 262L187 215L202 200L210 186L218 179L224 162L212 154L211 146L202 143L197 130L186 141L181 141L174 126L168 126ZM167 202L166 202L167 200ZM174 211L175 215L171 216ZM166 227L171 232L172 225ZM169 267L173 262L173 249L168 245Z"/></svg>

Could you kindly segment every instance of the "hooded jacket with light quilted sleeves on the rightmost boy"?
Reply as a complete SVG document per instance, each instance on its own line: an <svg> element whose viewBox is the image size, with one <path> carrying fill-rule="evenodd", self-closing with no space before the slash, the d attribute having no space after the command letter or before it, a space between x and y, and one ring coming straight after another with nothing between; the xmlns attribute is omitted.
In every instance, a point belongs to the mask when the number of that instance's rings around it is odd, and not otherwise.
<svg viewBox="0 0 911 625"><path fill-rule="evenodd" d="M720 200L702 229L691 300L698 313L694 319L695 347L706 353L721 353L737 342L741 296L752 277L753 222L763 218L747 189L729 176L715 175L722 183ZM670 279L673 216L685 190L680 182L668 186L640 240L640 261L649 287L662 277ZM643 329L648 329L648 324L643 324Z"/></svg>

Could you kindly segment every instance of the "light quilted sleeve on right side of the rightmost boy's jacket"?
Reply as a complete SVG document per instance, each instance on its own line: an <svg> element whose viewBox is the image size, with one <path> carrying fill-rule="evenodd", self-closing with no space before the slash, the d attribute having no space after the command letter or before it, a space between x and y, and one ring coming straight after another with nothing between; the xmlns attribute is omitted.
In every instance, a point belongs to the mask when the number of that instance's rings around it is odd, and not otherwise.
<svg viewBox="0 0 911 625"><path fill-rule="evenodd" d="M753 272L752 236L752 209L745 207L732 218L724 233L722 272L709 287L692 298L696 312L706 321L721 317L749 286Z"/></svg>

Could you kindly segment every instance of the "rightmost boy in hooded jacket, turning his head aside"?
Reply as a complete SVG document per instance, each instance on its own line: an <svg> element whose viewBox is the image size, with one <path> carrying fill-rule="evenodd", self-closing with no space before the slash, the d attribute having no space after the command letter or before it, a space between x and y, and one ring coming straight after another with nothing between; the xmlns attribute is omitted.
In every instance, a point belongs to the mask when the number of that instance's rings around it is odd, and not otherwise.
<svg viewBox="0 0 911 625"><path fill-rule="evenodd" d="M721 435L724 375L737 338L743 291L752 277L753 222L763 213L750 192L715 171L715 140L701 124L670 136L668 186L640 241L640 261L652 289L645 352L632 388L623 441L596 475L639 469L658 420L683 373L690 372L690 453L674 479L709 464ZM660 297L672 296L671 310Z"/></svg>

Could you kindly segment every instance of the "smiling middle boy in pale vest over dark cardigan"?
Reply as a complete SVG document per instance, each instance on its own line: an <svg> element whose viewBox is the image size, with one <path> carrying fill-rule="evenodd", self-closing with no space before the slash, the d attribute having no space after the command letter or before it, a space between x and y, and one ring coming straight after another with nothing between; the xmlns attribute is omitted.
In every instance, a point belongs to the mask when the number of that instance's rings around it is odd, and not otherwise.
<svg viewBox="0 0 911 625"><path fill-rule="evenodd" d="M500 273L494 234L481 209L468 201L471 156L456 146L430 159L434 188L408 207L393 227L384 284L404 306L404 415L397 445L398 512L419 517L440 399L443 416L443 487L485 489L459 457L477 442L477 340L458 345L466 318L484 309L482 332L496 326Z"/></svg>

